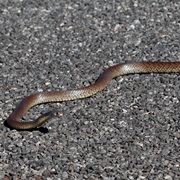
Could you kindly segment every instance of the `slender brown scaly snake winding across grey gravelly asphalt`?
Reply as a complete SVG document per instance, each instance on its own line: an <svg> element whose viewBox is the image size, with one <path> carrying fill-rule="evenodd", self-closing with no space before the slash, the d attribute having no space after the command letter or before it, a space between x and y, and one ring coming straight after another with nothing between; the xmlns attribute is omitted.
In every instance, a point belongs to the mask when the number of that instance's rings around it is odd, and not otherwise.
<svg viewBox="0 0 180 180"><path fill-rule="evenodd" d="M135 73L170 73L180 72L180 62L141 62L141 63L125 63L118 64L106 69L98 80L87 87L76 90L62 91L62 92L42 92L32 94L25 97L20 104L16 107L14 112L7 118L7 123L10 127L15 129L34 129L45 123L49 118L54 115L60 115L56 112L48 112L40 116L35 121L24 122L20 119L26 112L37 104L46 102L60 102L80 99L92 96L97 92L103 90L113 78Z"/></svg>

